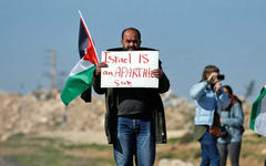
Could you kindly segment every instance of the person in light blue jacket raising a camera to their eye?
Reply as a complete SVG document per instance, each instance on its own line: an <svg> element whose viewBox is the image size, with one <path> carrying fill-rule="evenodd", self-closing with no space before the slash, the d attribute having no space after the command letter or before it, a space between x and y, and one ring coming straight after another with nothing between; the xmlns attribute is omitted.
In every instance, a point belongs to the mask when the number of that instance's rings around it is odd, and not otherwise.
<svg viewBox="0 0 266 166"><path fill-rule="evenodd" d="M224 75L215 65L205 66L202 80L191 89L195 101L195 138L201 143L201 166L218 166L219 154L216 137L221 134L219 113L229 105L229 100L222 89Z"/></svg>

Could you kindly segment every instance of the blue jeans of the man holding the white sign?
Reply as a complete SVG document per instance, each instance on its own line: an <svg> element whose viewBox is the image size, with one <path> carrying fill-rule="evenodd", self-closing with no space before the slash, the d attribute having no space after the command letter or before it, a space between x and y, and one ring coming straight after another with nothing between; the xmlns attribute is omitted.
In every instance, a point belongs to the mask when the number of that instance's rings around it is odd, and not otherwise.
<svg viewBox="0 0 266 166"><path fill-rule="evenodd" d="M113 153L117 166L133 166L133 155L137 166L153 166L155 141L151 121L119 117Z"/></svg>

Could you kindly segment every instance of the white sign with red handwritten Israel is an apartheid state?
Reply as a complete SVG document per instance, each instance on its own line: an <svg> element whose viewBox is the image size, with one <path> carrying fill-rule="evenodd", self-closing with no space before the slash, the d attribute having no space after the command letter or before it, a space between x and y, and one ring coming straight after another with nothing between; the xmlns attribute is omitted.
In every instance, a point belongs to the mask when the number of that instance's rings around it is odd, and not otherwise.
<svg viewBox="0 0 266 166"><path fill-rule="evenodd" d="M101 87L158 87L158 51L103 51L102 62Z"/></svg>

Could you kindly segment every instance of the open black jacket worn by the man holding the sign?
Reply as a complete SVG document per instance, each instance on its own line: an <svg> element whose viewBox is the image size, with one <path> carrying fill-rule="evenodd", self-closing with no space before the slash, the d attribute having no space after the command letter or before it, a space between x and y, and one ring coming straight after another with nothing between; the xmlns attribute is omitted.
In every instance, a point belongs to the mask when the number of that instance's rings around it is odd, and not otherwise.
<svg viewBox="0 0 266 166"><path fill-rule="evenodd" d="M140 48L137 51L141 50L150 50L154 51L153 49L149 48ZM108 51L123 51L122 48L110 49ZM160 68L161 68L161 61ZM95 75L93 76L93 89L98 94L105 94L105 106L106 106L106 114L105 114L105 133L108 136L108 142L110 144L113 143L113 134L115 133L116 122L117 122L117 107L116 107L116 100L117 95L115 93L115 89L101 89L101 76ZM165 125L165 115L164 115L164 107L163 102L161 100L160 93L164 93L168 91L170 82L165 74L158 81L158 89L147 89L150 102L153 103L152 105L152 132L154 133L156 143L166 143L166 125Z"/></svg>

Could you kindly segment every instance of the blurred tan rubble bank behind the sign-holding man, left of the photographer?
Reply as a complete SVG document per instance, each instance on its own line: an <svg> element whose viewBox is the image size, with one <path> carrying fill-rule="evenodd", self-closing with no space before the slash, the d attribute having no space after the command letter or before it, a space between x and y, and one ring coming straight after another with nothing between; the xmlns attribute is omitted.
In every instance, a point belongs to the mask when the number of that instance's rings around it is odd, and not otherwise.
<svg viewBox="0 0 266 166"><path fill-rule="evenodd" d="M172 93L163 96L166 106L170 136L183 135L192 129L193 103ZM68 107L55 90L38 90L28 95L0 92L0 133L1 141L17 133L39 133L47 136L68 137L74 142L105 143L103 120L104 97L93 96L92 103L80 97ZM88 138L85 135L100 138ZM84 136L76 136L84 135Z"/></svg>

